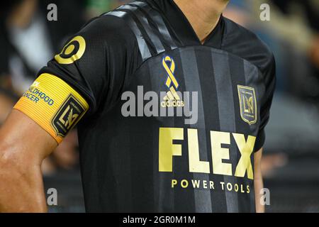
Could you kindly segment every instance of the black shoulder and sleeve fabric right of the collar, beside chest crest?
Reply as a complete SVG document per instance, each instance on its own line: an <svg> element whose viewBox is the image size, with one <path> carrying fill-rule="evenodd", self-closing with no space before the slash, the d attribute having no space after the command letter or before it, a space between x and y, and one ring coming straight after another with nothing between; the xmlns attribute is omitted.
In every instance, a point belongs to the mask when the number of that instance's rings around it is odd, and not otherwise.
<svg viewBox="0 0 319 227"><path fill-rule="evenodd" d="M222 48L251 62L262 74L265 94L262 97L260 110L262 123L259 127L259 135L255 146L255 150L258 151L264 145L264 127L269 121L270 108L276 87L276 62L272 52L267 45L259 40L257 35L227 18L225 18L225 23L227 24L227 31L225 31Z"/></svg>

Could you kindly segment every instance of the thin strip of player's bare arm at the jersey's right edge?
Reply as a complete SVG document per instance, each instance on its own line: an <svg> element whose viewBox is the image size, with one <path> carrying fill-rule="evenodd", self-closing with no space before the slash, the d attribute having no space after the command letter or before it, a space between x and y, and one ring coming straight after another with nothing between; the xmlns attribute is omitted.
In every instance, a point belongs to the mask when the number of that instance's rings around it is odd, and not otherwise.
<svg viewBox="0 0 319 227"><path fill-rule="evenodd" d="M260 192L264 188L264 182L262 180L261 161L262 149L254 153L254 194L257 213L264 213L264 205L260 202L262 196Z"/></svg>

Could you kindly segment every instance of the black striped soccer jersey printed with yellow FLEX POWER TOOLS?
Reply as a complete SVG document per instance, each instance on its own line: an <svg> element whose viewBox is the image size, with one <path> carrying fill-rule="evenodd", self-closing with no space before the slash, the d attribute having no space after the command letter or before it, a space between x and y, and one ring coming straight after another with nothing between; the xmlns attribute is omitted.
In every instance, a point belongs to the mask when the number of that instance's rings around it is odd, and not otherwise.
<svg viewBox="0 0 319 227"><path fill-rule="evenodd" d="M86 211L255 211L275 63L247 29L222 16L202 45L174 1L135 1L84 26L40 74L89 105L68 96L52 120L63 136L84 115Z"/></svg>

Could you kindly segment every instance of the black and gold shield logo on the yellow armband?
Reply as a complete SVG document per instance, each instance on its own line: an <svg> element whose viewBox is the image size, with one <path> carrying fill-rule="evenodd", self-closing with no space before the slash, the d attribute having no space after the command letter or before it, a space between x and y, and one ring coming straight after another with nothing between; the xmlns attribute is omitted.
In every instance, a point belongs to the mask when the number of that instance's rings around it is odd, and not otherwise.
<svg viewBox="0 0 319 227"><path fill-rule="evenodd" d="M65 137L84 113L85 107L70 94L57 111L57 114L52 118L52 126L57 135Z"/></svg>

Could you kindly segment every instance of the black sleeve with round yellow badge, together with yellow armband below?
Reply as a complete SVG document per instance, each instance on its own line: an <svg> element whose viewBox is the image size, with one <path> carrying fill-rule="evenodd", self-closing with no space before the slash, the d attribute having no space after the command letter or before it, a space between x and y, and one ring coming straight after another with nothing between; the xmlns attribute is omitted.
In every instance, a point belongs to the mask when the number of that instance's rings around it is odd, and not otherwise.
<svg viewBox="0 0 319 227"><path fill-rule="evenodd" d="M118 100L137 65L135 41L121 18L95 18L40 70L14 108L61 143L84 115Z"/></svg>

